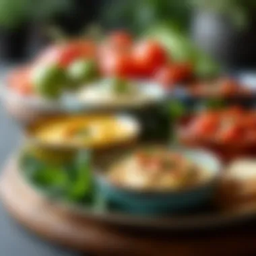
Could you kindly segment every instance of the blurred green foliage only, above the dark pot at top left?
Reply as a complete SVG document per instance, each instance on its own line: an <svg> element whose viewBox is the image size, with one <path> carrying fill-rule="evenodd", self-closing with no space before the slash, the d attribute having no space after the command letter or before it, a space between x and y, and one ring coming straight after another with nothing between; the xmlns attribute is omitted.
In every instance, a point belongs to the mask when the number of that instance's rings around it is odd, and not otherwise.
<svg viewBox="0 0 256 256"><path fill-rule="evenodd" d="M0 0L0 27L13 29L28 22L46 22L71 6L71 0Z"/></svg>

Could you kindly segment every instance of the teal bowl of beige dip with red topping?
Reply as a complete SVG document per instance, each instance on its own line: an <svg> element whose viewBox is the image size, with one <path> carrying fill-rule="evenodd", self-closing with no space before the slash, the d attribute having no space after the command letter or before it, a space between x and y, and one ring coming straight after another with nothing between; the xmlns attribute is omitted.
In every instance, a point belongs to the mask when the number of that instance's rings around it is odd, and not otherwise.
<svg viewBox="0 0 256 256"><path fill-rule="evenodd" d="M102 195L128 212L166 214L214 197L221 163L210 152L147 147L96 168Z"/></svg>

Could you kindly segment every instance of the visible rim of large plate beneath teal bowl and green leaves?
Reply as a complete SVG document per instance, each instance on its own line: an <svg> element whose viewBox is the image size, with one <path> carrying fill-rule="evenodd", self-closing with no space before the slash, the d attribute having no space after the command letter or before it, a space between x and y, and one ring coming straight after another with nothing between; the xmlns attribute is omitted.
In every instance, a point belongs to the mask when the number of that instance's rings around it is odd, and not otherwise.
<svg viewBox="0 0 256 256"><path fill-rule="evenodd" d="M168 216L154 216L145 214L131 214L110 204L102 197L93 202L83 204L72 203L64 199L49 195L45 188L36 186L28 179L18 163L20 153L13 156L8 167L8 173L13 177L15 187L22 187L34 196L50 204L57 212L67 214L73 218L85 221L96 221L102 224L122 226L129 228L156 229L156 230L201 230L205 228L221 228L232 224L239 224L255 218L256 205L243 205L232 211L218 207L215 200L209 205L196 211L186 211L183 214L168 214ZM9 183L8 183L9 184Z"/></svg>

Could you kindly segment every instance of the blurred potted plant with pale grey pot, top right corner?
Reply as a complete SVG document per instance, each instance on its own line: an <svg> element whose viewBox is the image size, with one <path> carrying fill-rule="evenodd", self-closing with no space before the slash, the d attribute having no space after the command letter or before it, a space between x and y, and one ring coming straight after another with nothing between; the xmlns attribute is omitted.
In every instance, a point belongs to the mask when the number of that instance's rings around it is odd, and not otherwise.
<svg viewBox="0 0 256 256"><path fill-rule="evenodd" d="M192 36L226 67L251 67L256 59L256 1L194 0Z"/></svg>

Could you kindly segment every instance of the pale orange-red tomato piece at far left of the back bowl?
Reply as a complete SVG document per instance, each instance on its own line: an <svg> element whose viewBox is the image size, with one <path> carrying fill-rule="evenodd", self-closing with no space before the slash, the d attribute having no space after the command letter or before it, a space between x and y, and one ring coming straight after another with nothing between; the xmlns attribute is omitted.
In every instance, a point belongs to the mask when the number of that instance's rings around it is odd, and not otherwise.
<svg viewBox="0 0 256 256"><path fill-rule="evenodd" d="M24 67L13 71L8 77L8 84L15 92L22 95L29 95L33 92L30 82L30 68Z"/></svg>

